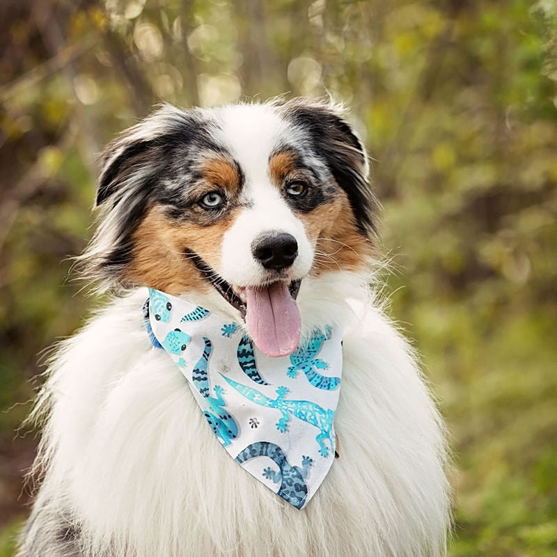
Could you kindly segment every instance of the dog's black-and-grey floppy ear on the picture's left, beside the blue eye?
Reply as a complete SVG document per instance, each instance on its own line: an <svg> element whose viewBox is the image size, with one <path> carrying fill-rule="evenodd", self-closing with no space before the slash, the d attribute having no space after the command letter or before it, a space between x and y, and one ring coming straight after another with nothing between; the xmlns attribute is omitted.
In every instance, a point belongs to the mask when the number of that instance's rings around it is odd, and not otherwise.
<svg viewBox="0 0 557 557"><path fill-rule="evenodd" d="M100 158L101 173L95 205L99 226L77 265L84 277L100 280L98 290L125 281L132 259L133 235L150 203L162 189L169 152L183 155L202 123L195 109L164 105L109 143Z"/></svg>

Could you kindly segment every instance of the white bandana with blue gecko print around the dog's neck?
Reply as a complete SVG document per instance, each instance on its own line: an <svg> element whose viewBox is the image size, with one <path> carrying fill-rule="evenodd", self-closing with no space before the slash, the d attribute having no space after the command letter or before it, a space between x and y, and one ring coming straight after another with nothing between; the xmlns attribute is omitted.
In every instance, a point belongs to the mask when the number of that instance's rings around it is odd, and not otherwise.
<svg viewBox="0 0 557 557"><path fill-rule="evenodd" d="M290 356L272 358L237 324L180 298L151 289L143 311L152 345L180 368L228 454L304 508L335 457L339 331L316 330Z"/></svg>

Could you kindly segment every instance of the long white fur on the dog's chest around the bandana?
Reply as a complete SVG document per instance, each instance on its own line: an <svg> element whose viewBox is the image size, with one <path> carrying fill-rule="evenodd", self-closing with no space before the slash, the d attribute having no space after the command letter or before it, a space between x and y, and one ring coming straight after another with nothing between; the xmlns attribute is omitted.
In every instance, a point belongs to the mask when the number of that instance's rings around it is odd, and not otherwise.
<svg viewBox="0 0 557 557"><path fill-rule="evenodd" d="M448 526L444 438L407 344L375 309L344 337L339 457L299 511L235 464L143 329L143 292L65 345L45 487L92 554L137 557L438 555Z"/></svg>

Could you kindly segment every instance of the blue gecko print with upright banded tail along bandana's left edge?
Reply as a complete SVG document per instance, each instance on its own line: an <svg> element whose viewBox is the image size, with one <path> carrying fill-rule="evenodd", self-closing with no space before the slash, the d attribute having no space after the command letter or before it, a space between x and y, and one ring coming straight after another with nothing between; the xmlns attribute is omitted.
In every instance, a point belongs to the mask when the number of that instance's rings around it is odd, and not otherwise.
<svg viewBox="0 0 557 557"><path fill-rule="evenodd" d="M219 385L214 386L216 397L211 397L207 366L212 352L212 345L208 338L203 337L203 341L205 342L205 350L203 350L203 355L191 371L191 379L196 389L205 398L205 402L207 402L208 409L203 412L203 415L207 418L214 434L221 440L223 446L226 447L232 443L233 439L238 437L238 426L234 418L223 408L226 406L226 402L222 398L224 389Z"/></svg>

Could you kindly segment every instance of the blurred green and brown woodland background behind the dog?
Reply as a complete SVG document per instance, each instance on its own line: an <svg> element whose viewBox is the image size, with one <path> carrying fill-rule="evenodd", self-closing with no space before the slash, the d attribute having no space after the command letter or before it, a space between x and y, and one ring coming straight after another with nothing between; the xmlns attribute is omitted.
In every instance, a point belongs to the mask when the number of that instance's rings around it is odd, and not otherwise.
<svg viewBox="0 0 557 557"><path fill-rule="evenodd" d="M450 430L450 555L557 555L555 1L2 0L0 77L0 556L38 354L97 303L68 256L104 143L161 100L327 92L374 159L385 292Z"/></svg>

